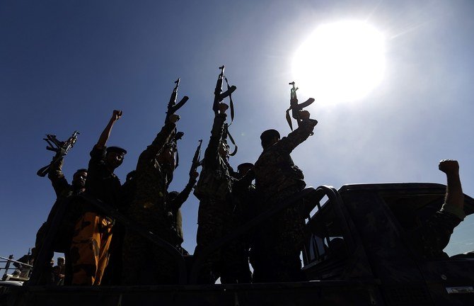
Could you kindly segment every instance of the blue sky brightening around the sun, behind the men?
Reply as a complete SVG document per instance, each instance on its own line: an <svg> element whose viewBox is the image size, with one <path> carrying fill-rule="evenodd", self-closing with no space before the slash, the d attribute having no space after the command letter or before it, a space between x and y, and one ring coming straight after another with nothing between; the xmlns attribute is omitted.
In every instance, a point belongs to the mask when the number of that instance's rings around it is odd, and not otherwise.
<svg viewBox="0 0 474 306"><path fill-rule="evenodd" d="M0 256L33 246L54 203L50 181L36 176L52 152L45 134L65 140L79 130L64 173L86 167L113 109L123 111L108 145L128 150L116 173L136 166L163 125L173 81L190 100L178 112L185 186L190 160L209 140L218 67L237 86L238 143L231 165L255 162L259 136L289 132L284 111L294 55L327 23L363 21L383 34L385 69L378 86L345 103L320 103L318 86L299 98L319 121L292 157L308 186L345 183L445 183L440 159L458 159L464 192L474 196L474 2L451 1L0 1ZM316 50L315 50L316 54ZM345 91L344 86L337 86ZM340 87L340 88L339 88ZM193 251L194 196L183 206L185 249ZM472 250L473 220L453 236Z"/></svg>

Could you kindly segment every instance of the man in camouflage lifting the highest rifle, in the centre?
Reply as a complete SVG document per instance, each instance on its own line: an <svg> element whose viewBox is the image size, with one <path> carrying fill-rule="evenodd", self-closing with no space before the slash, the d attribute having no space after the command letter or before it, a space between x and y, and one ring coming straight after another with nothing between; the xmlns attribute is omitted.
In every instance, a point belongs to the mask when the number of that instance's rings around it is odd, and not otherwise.
<svg viewBox="0 0 474 306"><path fill-rule="evenodd" d="M222 237L227 197L230 196L233 183L233 169L229 165L229 146L222 139L226 110L224 103L219 103L211 130L211 139L204 153L202 171L194 191L200 200L197 213L197 246L195 256L212 242ZM215 283L221 273L221 251L209 255L202 264L200 283Z"/></svg>

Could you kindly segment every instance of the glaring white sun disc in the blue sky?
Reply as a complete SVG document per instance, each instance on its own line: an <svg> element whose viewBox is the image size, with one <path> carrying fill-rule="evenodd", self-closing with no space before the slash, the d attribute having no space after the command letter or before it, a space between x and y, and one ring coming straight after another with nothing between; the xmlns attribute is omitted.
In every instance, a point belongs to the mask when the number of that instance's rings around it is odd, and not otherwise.
<svg viewBox="0 0 474 306"><path fill-rule="evenodd" d="M384 38L369 24L344 21L318 27L296 51L296 85L316 103L355 101L380 84Z"/></svg>

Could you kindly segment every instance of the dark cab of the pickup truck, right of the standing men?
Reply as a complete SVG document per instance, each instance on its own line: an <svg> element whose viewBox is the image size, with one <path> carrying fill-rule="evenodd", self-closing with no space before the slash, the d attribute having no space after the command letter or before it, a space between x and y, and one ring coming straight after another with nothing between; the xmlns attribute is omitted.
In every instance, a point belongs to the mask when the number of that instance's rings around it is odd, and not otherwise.
<svg viewBox="0 0 474 306"><path fill-rule="evenodd" d="M416 229L407 228L441 209L446 186L378 183L317 191L328 200L307 223L308 279L371 283L374 305L474 305L473 254L424 258L412 243ZM466 215L473 208L465 196Z"/></svg>

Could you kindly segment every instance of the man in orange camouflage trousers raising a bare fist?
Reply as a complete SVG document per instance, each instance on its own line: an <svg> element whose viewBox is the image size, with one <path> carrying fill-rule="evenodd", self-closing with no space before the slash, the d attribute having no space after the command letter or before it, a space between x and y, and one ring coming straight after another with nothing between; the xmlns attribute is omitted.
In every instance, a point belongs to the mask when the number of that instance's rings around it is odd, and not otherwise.
<svg viewBox="0 0 474 306"><path fill-rule="evenodd" d="M100 134L91 151L88 166L86 194L108 205L117 207L120 200L120 180L114 174L127 153L120 147L106 147L113 125L122 111L113 111L108 125ZM76 222L71 244L73 285L100 285L107 267L108 248L112 239L112 220L91 203L83 205L83 213Z"/></svg>

